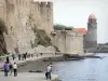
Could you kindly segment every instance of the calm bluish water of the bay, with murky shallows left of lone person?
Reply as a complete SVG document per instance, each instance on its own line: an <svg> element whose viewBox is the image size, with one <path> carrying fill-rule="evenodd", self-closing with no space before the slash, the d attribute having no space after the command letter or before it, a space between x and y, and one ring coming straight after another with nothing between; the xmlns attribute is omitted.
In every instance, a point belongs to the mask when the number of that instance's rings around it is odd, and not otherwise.
<svg viewBox="0 0 108 81"><path fill-rule="evenodd" d="M58 75L62 81L108 81L108 54L97 55L105 57L103 59L87 58L83 60L53 63L53 72ZM44 70L43 68L48 63L33 62L21 67L19 71L28 71L30 69Z"/></svg>

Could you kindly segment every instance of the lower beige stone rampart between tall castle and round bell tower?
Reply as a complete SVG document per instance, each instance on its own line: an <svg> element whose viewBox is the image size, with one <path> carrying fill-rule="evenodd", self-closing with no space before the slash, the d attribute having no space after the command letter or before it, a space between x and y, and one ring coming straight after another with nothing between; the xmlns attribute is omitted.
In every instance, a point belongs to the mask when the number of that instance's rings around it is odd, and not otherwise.
<svg viewBox="0 0 108 81"><path fill-rule="evenodd" d="M83 53L83 35L68 31L56 31L54 37L54 44L59 49L62 53L69 54L82 54Z"/></svg>

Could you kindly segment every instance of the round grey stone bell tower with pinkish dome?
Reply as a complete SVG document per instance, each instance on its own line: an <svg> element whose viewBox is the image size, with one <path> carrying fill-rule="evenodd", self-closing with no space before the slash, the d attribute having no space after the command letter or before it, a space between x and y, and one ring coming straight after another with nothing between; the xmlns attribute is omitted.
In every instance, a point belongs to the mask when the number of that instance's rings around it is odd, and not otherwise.
<svg viewBox="0 0 108 81"><path fill-rule="evenodd" d="M87 33L86 33L86 49L90 52L95 52L97 49L97 22L94 14L89 16Z"/></svg>

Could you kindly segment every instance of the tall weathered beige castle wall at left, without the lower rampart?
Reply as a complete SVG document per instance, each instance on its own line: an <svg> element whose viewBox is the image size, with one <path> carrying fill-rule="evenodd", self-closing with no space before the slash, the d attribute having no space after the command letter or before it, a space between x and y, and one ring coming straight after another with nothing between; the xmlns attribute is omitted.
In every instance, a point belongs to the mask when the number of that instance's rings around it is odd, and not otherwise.
<svg viewBox="0 0 108 81"><path fill-rule="evenodd" d="M8 35L4 33L9 53L33 52L30 41L36 36L31 29L33 24L46 31L53 30L53 3L33 2L33 0L0 0L0 17L8 26ZM33 24L30 25L32 19Z"/></svg>

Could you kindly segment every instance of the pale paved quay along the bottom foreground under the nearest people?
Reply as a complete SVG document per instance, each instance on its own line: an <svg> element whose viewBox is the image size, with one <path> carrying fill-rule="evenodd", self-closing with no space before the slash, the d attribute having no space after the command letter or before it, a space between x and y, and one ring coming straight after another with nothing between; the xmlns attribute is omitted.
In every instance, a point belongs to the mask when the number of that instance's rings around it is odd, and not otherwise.
<svg viewBox="0 0 108 81"><path fill-rule="evenodd" d="M50 81L45 79L44 73L18 73L17 77L9 76L4 77L3 72L0 72L0 81ZM58 81L58 76L52 75L51 81Z"/></svg>

